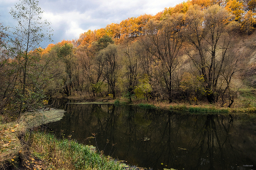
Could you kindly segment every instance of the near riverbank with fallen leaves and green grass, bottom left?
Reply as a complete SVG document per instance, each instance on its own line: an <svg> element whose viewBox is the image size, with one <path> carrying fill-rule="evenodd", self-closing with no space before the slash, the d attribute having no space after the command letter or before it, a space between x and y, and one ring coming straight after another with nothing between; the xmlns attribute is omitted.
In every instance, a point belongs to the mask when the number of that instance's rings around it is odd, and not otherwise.
<svg viewBox="0 0 256 170"><path fill-rule="evenodd" d="M64 110L27 112L12 123L0 122L0 169L122 169L94 147L51 134L27 131L60 120Z"/></svg>

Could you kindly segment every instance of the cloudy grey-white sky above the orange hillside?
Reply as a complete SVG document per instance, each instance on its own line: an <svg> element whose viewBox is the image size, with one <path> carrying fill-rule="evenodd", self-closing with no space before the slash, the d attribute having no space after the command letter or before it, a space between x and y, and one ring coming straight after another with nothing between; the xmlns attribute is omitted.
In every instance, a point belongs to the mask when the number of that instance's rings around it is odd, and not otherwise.
<svg viewBox="0 0 256 170"><path fill-rule="evenodd" d="M156 15L181 1L184 0L39 0L39 7L44 11L42 18L51 23L55 44L62 39L78 39L89 29L105 28L127 18ZM0 0L0 23L3 26L16 26L9 14L16 3L19 0ZM45 42L42 47L48 44Z"/></svg>

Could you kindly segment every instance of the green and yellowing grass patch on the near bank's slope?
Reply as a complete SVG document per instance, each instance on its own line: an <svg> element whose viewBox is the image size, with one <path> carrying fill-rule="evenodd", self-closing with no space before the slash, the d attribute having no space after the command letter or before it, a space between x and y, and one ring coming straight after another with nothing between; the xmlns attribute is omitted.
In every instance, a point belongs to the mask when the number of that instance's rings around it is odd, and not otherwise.
<svg viewBox="0 0 256 170"><path fill-rule="evenodd" d="M42 160L45 169L123 169L124 164L97 153L94 147L69 139L56 139L53 134L26 133L26 143L34 160ZM31 167L35 169L36 164Z"/></svg>

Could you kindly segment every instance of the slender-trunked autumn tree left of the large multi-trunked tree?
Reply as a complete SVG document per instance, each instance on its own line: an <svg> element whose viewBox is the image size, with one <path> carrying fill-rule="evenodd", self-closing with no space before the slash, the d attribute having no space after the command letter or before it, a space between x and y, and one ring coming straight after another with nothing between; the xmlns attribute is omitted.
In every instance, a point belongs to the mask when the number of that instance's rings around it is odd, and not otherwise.
<svg viewBox="0 0 256 170"><path fill-rule="evenodd" d="M183 26L184 15L174 14L166 15L162 21L150 20L145 29L146 39L143 45L149 53L161 61L162 78L170 102L173 101L173 69L176 69L176 59L184 42Z"/></svg>

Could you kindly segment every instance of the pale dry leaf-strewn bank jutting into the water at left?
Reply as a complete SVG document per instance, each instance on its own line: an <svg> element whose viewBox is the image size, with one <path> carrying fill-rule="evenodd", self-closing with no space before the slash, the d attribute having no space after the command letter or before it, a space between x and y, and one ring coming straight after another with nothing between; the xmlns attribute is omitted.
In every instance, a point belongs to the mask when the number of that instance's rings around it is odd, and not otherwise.
<svg viewBox="0 0 256 170"><path fill-rule="evenodd" d="M0 166L6 162L15 163L15 158L23 152L18 136L23 134L26 129L60 120L63 115L64 110L60 109L42 110L26 113L12 123L0 123Z"/></svg>

